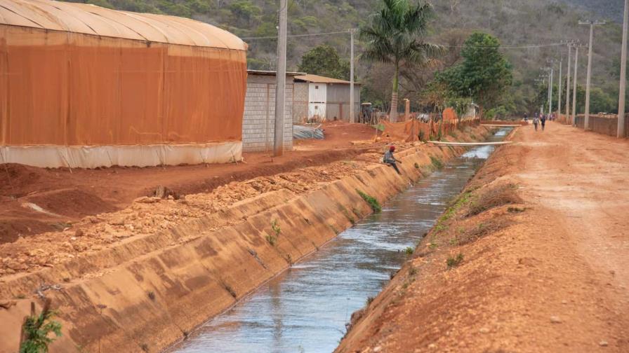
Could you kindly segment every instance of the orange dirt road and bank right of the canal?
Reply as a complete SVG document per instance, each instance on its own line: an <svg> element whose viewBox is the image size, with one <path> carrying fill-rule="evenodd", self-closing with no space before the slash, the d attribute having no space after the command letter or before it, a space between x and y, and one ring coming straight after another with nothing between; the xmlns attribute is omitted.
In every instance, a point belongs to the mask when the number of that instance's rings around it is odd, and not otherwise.
<svg viewBox="0 0 629 353"><path fill-rule="evenodd" d="M629 352L628 141L558 123L512 139L337 352Z"/></svg>

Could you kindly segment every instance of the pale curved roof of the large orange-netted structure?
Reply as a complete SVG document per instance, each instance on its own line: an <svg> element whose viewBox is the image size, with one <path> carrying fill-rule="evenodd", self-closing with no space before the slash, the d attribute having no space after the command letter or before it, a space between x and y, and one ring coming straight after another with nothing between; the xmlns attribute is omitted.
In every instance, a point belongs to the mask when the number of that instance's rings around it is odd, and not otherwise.
<svg viewBox="0 0 629 353"><path fill-rule="evenodd" d="M0 25L246 50L246 43L234 34L189 18L115 11L53 0L0 0Z"/></svg>

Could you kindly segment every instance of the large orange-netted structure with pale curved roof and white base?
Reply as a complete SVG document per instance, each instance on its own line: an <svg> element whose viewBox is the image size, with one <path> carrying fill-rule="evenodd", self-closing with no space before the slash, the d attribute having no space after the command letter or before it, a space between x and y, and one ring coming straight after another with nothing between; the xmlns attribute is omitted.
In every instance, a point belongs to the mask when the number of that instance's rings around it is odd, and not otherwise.
<svg viewBox="0 0 629 353"><path fill-rule="evenodd" d="M0 163L241 159L246 43L203 22L0 0Z"/></svg>

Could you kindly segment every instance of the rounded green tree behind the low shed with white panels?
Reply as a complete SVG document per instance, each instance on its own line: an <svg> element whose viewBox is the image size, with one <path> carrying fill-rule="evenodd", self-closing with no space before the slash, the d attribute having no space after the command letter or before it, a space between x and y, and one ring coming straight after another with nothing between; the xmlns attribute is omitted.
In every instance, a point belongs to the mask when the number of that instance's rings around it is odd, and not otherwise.
<svg viewBox="0 0 629 353"><path fill-rule="evenodd" d="M350 62L343 60L336 49L322 44L308 50L302 57L298 70L307 74L350 79Z"/></svg>

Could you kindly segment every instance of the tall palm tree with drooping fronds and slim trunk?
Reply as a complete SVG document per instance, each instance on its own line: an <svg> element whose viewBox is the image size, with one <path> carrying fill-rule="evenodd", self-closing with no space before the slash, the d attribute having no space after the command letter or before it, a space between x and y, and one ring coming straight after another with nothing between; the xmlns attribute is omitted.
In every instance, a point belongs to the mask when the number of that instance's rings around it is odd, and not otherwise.
<svg viewBox="0 0 629 353"><path fill-rule="evenodd" d="M371 23L360 29L360 38L366 44L361 57L395 66L390 113L390 120L395 122L399 67L428 64L430 59L441 54L443 49L441 46L425 43L422 39L432 15L430 4L411 6L409 0L383 1L384 6L380 12L371 15Z"/></svg>

